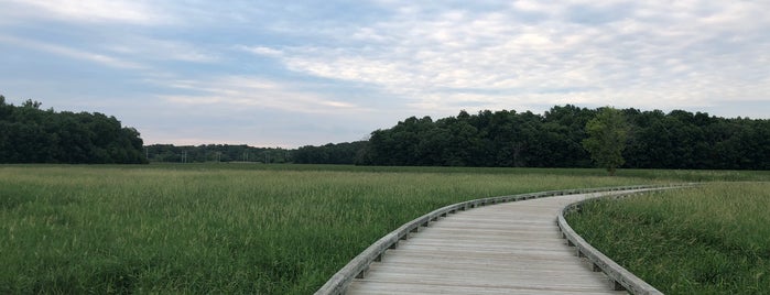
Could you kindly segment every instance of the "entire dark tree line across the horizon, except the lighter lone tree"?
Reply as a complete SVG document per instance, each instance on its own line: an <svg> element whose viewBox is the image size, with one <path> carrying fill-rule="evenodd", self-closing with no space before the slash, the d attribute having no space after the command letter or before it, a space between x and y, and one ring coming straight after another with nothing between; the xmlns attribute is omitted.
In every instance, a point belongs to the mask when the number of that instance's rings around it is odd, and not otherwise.
<svg viewBox="0 0 770 295"><path fill-rule="evenodd" d="M252 162L399 166L590 167L586 124L603 108L555 106L543 114L460 111L411 117L368 141L302 146L153 144L115 117L42 110L0 96L0 163ZM619 110L627 168L770 170L770 120L674 110Z"/></svg>

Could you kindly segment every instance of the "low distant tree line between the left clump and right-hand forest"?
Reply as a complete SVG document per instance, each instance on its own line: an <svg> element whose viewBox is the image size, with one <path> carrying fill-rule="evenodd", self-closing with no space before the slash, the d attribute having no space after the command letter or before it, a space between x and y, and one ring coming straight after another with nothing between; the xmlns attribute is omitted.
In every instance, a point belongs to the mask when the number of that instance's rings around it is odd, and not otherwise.
<svg viewBox="0 0 770 295"><path fill-rule="evenodd" d="M204 162L250 162L292 163L292 150L280 148L253 148L246 144L202 144L172 145L152 144L145 146L150 162L204 163Z"/></svg>

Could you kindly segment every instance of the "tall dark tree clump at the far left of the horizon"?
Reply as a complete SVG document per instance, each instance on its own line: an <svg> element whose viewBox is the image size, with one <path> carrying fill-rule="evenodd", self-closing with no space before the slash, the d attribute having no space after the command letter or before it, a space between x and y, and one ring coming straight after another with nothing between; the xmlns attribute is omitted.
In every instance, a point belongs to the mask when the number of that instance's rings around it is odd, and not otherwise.
<svg viewBox="0 0 770 295"><path fill-rule="evenodd" d="M40 107L0 96L0 163L147 163L139 132L115 117Z"/></svg>

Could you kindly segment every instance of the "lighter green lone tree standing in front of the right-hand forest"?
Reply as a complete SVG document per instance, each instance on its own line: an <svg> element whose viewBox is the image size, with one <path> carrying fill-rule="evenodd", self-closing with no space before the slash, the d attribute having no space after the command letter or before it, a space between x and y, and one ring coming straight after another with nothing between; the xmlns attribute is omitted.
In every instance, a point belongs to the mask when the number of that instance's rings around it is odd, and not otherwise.
<svg viewBox="0 0 770 295"><path fill-rule="evenodd" d="M583 146L590 159L609 175L615 175L617 167L625 163L622 152L626 149L628 127L622 112L605 107L586 123L588 138L583 140Z"/></svg>

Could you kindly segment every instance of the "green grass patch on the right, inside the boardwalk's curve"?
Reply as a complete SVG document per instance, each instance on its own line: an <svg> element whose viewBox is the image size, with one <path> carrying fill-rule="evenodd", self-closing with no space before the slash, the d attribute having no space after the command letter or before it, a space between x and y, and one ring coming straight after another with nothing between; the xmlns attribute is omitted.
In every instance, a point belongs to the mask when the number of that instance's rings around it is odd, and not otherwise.
<svg viewBox="0 0 770 295"><path fill-rule="evenodd" d="M770 286L768 212L770 183L714 183L590 201L567 221L665 294L762 294Z"/></svg>

